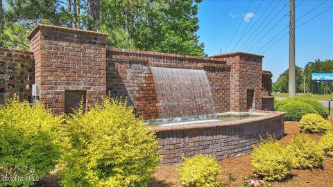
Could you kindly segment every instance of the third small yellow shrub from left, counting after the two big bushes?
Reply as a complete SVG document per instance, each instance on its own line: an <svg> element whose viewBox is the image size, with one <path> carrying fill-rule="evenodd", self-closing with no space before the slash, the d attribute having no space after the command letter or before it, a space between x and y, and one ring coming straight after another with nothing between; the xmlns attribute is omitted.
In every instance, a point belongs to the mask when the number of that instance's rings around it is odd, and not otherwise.
<svg viewBox="0 0 333 187"><path fill-rule="evenodd" d="M307 134L295 136L289 143L287 150L291 154L293 168L323 166L323 150Z"/></svg>

